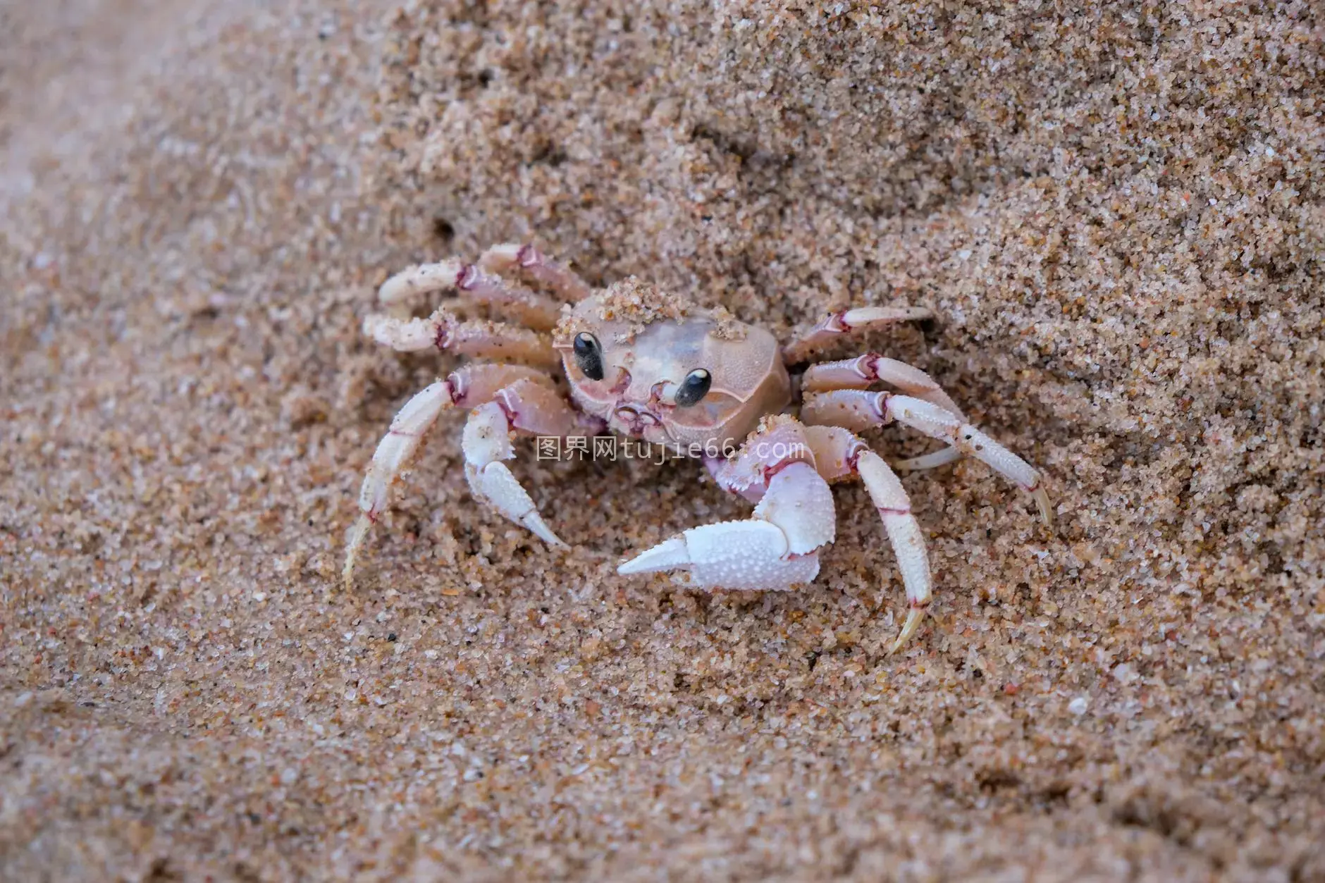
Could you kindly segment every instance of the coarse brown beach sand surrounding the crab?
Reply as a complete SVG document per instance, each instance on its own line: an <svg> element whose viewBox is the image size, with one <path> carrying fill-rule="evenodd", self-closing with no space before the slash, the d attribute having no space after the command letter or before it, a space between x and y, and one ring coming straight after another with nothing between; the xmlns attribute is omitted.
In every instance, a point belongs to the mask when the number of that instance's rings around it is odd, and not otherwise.
<svg viewBox="0 0 1325 883"><path fill-rule="evenodd" d="M0 5L0 879L1325 879L1325 21L1023 7ZM708 597L613 573L743 510L697 464L526 448L555 553L449 420L338 590L443 370L372 285L531 235L933 308L867 343L1057 525L906 477L886 658L861 488L812 587Z"/></svg>

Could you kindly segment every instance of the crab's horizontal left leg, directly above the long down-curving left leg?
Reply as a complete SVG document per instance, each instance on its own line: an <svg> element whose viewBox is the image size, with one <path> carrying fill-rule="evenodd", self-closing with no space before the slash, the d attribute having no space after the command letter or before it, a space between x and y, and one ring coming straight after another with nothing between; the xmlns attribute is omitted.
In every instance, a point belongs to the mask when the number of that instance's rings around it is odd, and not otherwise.
<svg viewBox="0 0 1325 883"><path fill-rule="evenodd" d="M560 357L551 343L529 329L502 322L462 322L450 310L439 308L425 320L370 316L363 330L378 343L403 353L436 347L477 358L518 359L554 367Z"/></svg>

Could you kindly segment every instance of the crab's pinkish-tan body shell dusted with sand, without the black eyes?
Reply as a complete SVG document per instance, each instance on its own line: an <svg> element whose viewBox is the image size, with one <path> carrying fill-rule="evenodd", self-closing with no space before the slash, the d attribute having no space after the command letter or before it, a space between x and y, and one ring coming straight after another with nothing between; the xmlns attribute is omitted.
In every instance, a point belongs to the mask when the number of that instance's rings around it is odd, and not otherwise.
<svg viewBox="0 0 1325 883"><path fill-rule="evenodd" d="M602 346L602 381L586 377L575 359L572 342L582 331ZM556 326L553 345L582 410L613 432L674 445L681 455L730 452L762 416L791 400L772 334L635 278L580 301ZM712 375L709 392L678 407L676 390L697 369Z"/></svg>

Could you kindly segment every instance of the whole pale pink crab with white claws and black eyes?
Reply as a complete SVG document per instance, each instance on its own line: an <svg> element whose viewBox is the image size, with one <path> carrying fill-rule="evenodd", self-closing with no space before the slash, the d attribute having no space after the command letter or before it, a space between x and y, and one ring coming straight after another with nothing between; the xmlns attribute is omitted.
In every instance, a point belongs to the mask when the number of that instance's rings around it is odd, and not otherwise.
<svg viewBox="0 0 1325 883"><path fill-rule="evenodd" d="M462 320L444 306L427 318L399 314L409 298L445 290L521 325ZM719 487L755 504L751 517L692 528L617 567L621 575L676 571L697 589L787 590L811 582L819 552L835 537L829 485L860 479L906 589L906 620L889 652L916 634L933 591L924 536L894 468L974 457L1027 491L1051 522L1039 472L971 426L924 371L877 353L810 363L844 335L928 318L926 309L835 312L779 345L766 329L721 308L700 309L635 277L594 290L530 244L496 245L476 264L411 266L388 278L378 300L396 313L364 321L379 343L477 361L411 398L378 444L348 537L347 587L364 537L390 505L392 484L452 408L469 411L462 452L473 496L553 546L566 544L506 465L515 456L517 432L624 435L701 459ZM555 379L558 370L568 395ZM876 383L896 391L874 391ZM893 422L947 447L889 464L857 434Z"/></svg>

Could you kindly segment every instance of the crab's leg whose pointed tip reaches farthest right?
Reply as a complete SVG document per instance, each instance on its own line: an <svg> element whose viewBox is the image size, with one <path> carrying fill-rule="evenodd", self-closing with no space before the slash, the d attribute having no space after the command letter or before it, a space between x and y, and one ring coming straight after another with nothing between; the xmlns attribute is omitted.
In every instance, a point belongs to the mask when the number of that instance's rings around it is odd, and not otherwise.
<svg viewBox="0 0 1325 883"><path fill-rule="evenodd" d="M806 396L800 419L810 424L840 426L853 432L897 420L953 445L1022 485L1035 499L1044 522L1052 524L1049 496L1040 485L1040 473L958 415L931 402L890 392L833 390Z"/></svg>

